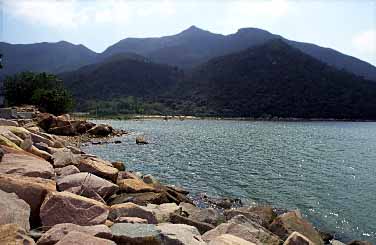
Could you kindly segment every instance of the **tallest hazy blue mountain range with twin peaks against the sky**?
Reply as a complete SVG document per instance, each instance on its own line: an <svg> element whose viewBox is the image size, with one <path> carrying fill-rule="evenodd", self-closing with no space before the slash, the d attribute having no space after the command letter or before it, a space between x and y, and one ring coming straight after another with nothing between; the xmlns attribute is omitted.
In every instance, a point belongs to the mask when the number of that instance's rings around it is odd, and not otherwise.
<svg viewBox="0 0 376 245"><path fill-rule="evenodd" d="M241 51L281 36L257 28L242 28L230 35L214 34L195 26L172 36L159 38L126 38L107 48L101 56L134 52L157 63L193 68L209 59ZM376 81L376 67L333 49L284 39L302 52L338 69Z"/></svg>

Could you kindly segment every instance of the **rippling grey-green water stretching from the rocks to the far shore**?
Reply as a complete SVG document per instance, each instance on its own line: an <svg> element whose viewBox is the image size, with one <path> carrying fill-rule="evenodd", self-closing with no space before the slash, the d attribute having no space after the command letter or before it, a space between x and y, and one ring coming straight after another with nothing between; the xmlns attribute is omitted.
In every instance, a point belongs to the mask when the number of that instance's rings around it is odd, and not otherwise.
<svg viewBox="0 0 376 245"><path fill-rule="evenodd" d="M193 194L299 208L319 228L376 243L376 123L101 121L132 132L87 146ZM149 145L136 145L145 135Z"/></svg>

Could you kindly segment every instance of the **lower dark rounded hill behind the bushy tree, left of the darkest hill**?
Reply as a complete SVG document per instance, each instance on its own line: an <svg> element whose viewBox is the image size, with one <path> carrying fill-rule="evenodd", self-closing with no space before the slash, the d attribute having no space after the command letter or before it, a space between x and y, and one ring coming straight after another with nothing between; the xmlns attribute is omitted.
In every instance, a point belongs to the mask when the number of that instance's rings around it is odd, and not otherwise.
<svg viewBox="0 0 376 245"><path fill-rule="evenodd" d="M162 95L176 85L182 72L177 67L152 63L142 56L123 53L58 76L80 100L110 100L126 96Z"/></svg>

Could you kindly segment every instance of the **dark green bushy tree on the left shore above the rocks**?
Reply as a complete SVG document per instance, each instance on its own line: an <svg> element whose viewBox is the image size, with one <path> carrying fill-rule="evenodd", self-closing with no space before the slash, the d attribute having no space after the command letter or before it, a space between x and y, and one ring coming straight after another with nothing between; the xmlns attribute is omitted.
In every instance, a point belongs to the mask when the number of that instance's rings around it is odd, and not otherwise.
<svg viewBox="0 0 376 245"><path fill-rule="evenodd" d="M31 104L56 115L73 109L71 94L52 74L22 72L7 77L4 92L8 106Z"/></svg>

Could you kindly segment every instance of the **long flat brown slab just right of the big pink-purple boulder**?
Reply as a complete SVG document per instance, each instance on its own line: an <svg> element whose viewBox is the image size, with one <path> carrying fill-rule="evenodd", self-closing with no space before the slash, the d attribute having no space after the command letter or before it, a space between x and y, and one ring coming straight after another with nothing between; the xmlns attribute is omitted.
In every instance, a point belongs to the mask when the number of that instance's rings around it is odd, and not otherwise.
<svg viewBox="0 0 376 245"><path fill-rule="evenodd" d="M111 205L126 203L126 202L133 202L137 205L146 206L148 203L151 204L162 204L168 203L169 200L166 196L166 193L160 192L142 192L142 193L123 193L120 195L116 195L115 197L111 198L109 203Z"/></svg>

